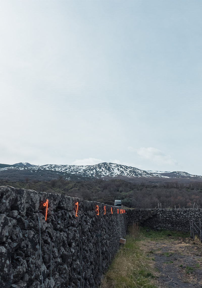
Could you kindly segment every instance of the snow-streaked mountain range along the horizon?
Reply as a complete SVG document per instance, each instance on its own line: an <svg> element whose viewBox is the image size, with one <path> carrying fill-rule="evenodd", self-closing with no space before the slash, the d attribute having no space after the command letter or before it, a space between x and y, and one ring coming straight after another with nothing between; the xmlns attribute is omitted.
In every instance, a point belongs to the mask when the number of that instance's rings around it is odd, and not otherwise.
<svg viewBox="0 0 202 288"><path fill-rule="evenodd" d="M202 179L202 176L191 175L182 171L151 171L140 170L135 167L115 163L100 163L96 165L32 165L29 163L16 163L14 165L0 164L0 179L5 179L9 175L24 175L30 177L35 175L35 178L50 179L56 178L59 175L66 179L92 179L103 177L160 177L160 178L181 178L195 177ZM19 174L20 173L20 174ZM9 177L10 178L10 177ZM21 177L22 178L22 177Z"/></svg>

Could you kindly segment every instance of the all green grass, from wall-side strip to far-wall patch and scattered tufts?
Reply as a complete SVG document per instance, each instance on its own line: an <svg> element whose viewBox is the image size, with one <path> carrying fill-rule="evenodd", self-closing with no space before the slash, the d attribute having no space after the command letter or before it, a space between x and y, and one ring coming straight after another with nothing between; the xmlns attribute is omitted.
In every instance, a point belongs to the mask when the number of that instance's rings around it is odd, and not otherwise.
<svg viewBox="0 0 202 288"><path fill-rule="evenodd" d="M126 244L118 251L114 261L110 265L100 288L156 288L155 278L157 278L158 270L153 268L152 261L155 261L154 251L150 250L144 253L141 250L148 240L173 241L178 237L188 237L189 233L178 231L146 231L147 228L138 228L135 224L129 229L126 236ZM171 234L172 239L168 234ZM161 249L158 249L159 251ZM171 252L164 253L169 257ZM173 261L166 262L172 264ZM192 273L192 269L186 269L188 273Z"/></svg>

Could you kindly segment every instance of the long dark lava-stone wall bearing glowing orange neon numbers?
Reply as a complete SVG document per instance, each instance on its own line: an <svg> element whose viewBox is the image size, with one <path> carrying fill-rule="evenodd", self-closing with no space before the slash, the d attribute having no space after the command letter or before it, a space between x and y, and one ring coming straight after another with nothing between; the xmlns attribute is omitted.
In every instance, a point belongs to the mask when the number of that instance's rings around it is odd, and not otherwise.
<svg viewBox="0 0 202 288"><path fill-rule="evenodd" d="M127 225L126 214L105 209L104 215L103 203L1 186L0 287L39 288L42 278L45 288L98 287Z"/></svg>

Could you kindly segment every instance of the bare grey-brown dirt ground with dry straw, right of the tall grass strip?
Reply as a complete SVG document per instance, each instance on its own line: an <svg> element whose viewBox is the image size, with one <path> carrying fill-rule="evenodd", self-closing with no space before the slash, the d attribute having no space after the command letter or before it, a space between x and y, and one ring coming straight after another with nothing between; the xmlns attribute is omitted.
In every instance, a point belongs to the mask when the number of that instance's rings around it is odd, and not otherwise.
<svg viewBox="0 0 202 288"><path fill-rule="evenodd" d="M202 288L202 243L195 239L167 236L167 240L147 241L142 249L153 260L157 287Z"/></svg>

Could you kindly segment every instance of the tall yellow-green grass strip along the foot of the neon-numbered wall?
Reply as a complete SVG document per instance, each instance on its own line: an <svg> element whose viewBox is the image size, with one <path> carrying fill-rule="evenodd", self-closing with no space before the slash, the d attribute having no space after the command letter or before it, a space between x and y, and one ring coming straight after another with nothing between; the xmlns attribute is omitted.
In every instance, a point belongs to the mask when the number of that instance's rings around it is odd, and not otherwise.
<svg viewBox="0 0 202 288"><path fill-rule="evenodd" d="M143 255L140 242L127 235L126 244L118 251L100 288L156 288L151 283L155 271Z"/></svg>

